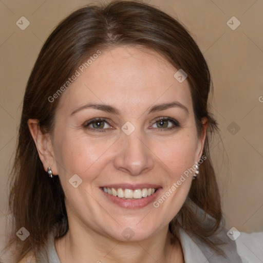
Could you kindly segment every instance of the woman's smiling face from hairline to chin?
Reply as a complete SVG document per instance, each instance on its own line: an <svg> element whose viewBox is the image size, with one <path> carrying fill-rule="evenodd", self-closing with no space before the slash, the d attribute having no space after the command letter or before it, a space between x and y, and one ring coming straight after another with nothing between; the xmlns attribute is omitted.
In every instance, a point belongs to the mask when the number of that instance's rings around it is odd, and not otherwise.
<svg viewBox="0 0 263 263"><path fill-rule="evenodd" d="M201 157L204 136L197 136L187 79L178 82L176 71L154 51L116 47L79 70L61 95L51 168L70 229L143 240L179 212L193 174L181 175Z"/></svg>

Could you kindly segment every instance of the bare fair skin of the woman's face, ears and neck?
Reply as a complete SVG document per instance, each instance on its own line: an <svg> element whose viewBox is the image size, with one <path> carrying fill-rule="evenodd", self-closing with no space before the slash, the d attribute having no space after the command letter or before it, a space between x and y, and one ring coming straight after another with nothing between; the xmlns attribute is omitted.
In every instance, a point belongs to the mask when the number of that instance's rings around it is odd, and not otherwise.
<svg viewBox="0 0 263 263"><path fill-rule="evenodd" d="M28 121L43 166L59 175L66 198L69 231L55 241L62 263L66 262L184 262L178 239L171 244L168 223L179 212L192 183L190 174L158 208L153 203L125 209L110 202L99 187L114 183L161 185L158 198L171 188L187 168L201 158L207 120L197 136L193 104L187 79L179 83L178 69L158 53L129 46L105 50L60 97L51 134L43 135L37 120ZM148 114L162 103L170 107ZM116 107L120 114L86 108L87 103ZM180 127L161 130L158 117L171 117ZM93 118L106 118L105 132L85 128ZM126 135L121 127L135 127ZM158 126L159 125L159 126ZM165 126L166 127L166 126ZM101 130L101 129L100 129ZM68 182L77 174L82 183ZM129 241L122 231L130 228Z"/></svg>

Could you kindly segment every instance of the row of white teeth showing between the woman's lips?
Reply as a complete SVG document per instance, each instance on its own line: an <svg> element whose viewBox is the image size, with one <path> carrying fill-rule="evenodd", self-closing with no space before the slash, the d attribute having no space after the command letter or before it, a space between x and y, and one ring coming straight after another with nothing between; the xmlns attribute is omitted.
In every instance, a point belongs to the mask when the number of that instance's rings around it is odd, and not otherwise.
<svg viewBox="0 0 263 263"><path fill-rule="evenodd" d="M109 188L109 187L103 187L103 191L105 193L108 193L109 195L118 196L120 198L134 198L134 199L140 199L142 197L147 197L150 195L153 195L155 193L154 188L143 188L143 189L121 189L118 188L117 190L115 188Z"/></svg>

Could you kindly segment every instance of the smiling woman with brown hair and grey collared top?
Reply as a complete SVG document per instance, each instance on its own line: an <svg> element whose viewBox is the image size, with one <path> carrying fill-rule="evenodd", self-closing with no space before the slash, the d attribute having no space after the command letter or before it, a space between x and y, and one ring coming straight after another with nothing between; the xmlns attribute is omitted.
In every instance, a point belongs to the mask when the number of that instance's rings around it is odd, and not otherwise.
<svg viewBox="0 0 263 263"><path fill-rule="evenodd" d="M160 10L70 14L26 88L15 262L242 262L210 160L210 88L196 43Z"/></svg>

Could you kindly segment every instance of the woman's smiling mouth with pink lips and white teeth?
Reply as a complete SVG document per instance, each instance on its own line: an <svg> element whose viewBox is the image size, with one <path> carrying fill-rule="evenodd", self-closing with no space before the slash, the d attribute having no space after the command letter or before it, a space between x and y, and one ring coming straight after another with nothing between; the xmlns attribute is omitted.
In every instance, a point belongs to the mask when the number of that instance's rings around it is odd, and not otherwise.
<svg viewBox="0 0 263 263"><path fill-rule="evenodd" d="M152 203L162 189L153 184L118 184L100 187L104 196L122 208L143 208Z"/></svg>

